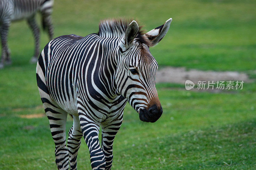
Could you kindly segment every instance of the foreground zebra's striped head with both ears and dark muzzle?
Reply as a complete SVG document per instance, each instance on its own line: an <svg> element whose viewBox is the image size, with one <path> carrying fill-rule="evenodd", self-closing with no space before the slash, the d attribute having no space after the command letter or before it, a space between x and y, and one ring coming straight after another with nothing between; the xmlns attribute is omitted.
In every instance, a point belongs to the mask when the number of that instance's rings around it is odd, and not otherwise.
<svg viewBox="0 0 256 170"><path fill-rule="evenodd" d="M121 60L115 76L117 92L127 99L143 122L156 122L163 113L155 86L158 64L149 47L164 38L171 21L172 18L146 34L142 34L137 22L132 21L119 43Z"/></svg>

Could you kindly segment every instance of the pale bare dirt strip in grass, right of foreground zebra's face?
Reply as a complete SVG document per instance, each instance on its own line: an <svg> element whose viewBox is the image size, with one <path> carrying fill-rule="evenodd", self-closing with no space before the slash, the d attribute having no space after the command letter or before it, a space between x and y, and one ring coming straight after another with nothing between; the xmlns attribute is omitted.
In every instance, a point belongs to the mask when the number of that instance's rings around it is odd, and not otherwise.
<svg viewBox="0 0 256 170"><path fill-rule="evenodd" d="M185 67L165 67L156 72L156 83L185 84L186 80L191 80L195 84L198 81L252 81L247 74L236 71L202 71L196 69L186 70Z"/></svg>

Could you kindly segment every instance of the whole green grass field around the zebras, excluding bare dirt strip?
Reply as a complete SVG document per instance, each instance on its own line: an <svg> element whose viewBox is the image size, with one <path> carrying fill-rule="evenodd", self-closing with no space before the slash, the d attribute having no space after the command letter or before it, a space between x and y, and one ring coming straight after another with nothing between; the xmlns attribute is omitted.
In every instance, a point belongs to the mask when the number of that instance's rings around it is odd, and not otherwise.
<svg viewBox="0 0 256 170"><path fill-rule="evenodd" d="M75 2L75 3L74 3ZM92 1L55 0L54 36L85 36L104 18L135 18L151 30L172 18L151 53L159 67L233 70L256 78L256 2L253 0ZM40 17L38 16L38 23ZM48 42L41 33L41 48ZM33 37L25 21L9 32L12 65L0 70L0 169L56 169L54 143L39 97ZM221 93L157 84L164 113L142 123L129 106L113 146L112 169L255 169L256 85ZM71 127L69 118L67 129ZM79 169L90 169L82 141Z"/></svg>

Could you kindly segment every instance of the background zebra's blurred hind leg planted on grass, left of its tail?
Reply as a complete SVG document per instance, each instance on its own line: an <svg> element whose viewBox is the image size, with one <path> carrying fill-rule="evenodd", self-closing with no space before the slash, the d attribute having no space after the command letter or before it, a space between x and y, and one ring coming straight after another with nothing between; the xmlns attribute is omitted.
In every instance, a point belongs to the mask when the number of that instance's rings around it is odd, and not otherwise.
<svg viewBox="0 0 256 170"><path fill-rule="evenodd" d="M40 32L39 32L39 27L36 24L35 15L32 16L31 18L28 18L28 25L30 26L35 39L35 53L34 53L34 56L30 59L30 63L36 63L39 56Z"/></svg>

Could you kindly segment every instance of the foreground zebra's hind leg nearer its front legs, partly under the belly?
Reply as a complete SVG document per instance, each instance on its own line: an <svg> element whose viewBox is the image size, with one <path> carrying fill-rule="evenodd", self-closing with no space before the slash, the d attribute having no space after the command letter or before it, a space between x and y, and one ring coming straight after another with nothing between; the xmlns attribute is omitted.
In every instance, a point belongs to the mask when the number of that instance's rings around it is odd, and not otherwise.
<svg viewBox="0 0 256 170"><path fill-rule="evenodd" d="M80 147L81 137L83 136L78 116L72 115L72 117L73 125L68 132L67 144L71 170L76 169L77 152Z"/></svg>

